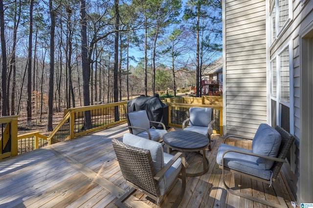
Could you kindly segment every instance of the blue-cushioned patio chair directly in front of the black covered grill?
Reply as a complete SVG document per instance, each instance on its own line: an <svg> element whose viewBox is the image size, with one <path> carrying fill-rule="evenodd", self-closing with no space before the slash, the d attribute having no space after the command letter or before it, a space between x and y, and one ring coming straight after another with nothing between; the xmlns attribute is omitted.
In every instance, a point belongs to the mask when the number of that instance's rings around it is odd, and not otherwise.
<svg viewBox="0 0 313 208"><path fill-rule="evenodd" d="M130 133L139 137L153 141L161 141L163 135L167 132L163 123L149 121L146 110L127 113L126 119ZM150 126L152 124L161 125L163 129L151 128Z"/></svg>

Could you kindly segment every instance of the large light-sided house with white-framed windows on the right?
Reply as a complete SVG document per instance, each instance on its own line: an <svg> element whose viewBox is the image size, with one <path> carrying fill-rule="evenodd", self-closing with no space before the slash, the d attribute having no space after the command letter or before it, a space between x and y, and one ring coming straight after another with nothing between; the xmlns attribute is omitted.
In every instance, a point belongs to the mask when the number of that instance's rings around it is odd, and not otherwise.
<svg viewBox="0 0 313 208"><path fill-rule="evenodd" d="M260 123L288 130L284 175L298 204L313 203L313 0L222 7L224 135L253 137Z"/></svg>

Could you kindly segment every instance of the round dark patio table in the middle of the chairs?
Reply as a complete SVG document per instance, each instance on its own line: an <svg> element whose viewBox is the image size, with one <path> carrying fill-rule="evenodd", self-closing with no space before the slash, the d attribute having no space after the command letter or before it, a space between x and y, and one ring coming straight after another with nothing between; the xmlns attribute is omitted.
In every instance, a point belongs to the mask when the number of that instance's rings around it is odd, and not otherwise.
<svg viewBox="0 0 313 208"><path fill-rule="evenodd" d="M170 131L163 136L163 142L167 145L167 152L172 149L182 152L196 152L203 159L203 170L196 173L186 172L186 176L200 176L209 170L209 161L205 156L205 149L209 146L209 139L203 134L193 131ZM202 150L202 153L200 151Z"/></svg>

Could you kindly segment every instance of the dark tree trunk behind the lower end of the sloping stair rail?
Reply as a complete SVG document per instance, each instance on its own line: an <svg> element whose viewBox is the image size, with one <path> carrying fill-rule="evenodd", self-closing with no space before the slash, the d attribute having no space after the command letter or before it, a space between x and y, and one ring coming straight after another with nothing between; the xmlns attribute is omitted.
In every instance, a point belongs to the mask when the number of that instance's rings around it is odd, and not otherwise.
<svg viewBox="0 0 313 208"><path fill-rule="evenodd" d="M48 121L47 131L52 131L52 115L53 115L53 77L54 77L54 29L55 29L55 11L53 9L52 0L49 0L50 10L50 69L49 69L49 90L48 90Z"/></svg>

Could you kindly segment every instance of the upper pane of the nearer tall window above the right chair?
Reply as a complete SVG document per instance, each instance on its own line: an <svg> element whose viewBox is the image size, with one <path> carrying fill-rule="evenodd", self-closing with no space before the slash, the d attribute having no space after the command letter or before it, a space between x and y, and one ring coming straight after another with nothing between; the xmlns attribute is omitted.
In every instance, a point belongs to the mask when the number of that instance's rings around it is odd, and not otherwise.
<svg viewBox="0 0 313 208"><path fill-rule="evenodd" d="M279 55L280 60L280 100L289 103L289 49Z"/></svg>

